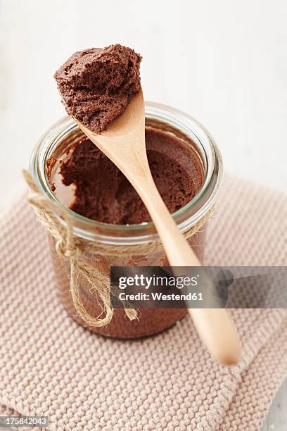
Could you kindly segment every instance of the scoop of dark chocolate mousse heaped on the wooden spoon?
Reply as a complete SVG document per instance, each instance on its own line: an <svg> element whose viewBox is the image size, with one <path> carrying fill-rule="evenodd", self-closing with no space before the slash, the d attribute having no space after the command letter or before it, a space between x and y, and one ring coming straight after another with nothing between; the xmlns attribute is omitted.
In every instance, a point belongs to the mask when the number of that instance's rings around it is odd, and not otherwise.
<svg viewBox="0 0 287 431"><path fill-rule="evenodd" d="M100 134L139 91L141 56L120 44L75 52L54 77L69 115Z"/></svg>

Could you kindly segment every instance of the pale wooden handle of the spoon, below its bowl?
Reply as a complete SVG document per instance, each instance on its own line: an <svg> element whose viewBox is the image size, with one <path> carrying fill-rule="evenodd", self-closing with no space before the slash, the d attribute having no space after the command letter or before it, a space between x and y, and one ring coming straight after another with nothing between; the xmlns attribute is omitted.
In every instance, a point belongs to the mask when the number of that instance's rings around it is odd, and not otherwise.
<svg viewBox="0 0 287 431"><path fill-rule="evenodd" d="M136 185L136 190L151 214L170 266L201 266L193 249L179 232L153 179L141 178L140 184ZM227 311L221 308L189 308L189 313L210 354L219 363L227 365L238 363L240 346Z"/></svg>

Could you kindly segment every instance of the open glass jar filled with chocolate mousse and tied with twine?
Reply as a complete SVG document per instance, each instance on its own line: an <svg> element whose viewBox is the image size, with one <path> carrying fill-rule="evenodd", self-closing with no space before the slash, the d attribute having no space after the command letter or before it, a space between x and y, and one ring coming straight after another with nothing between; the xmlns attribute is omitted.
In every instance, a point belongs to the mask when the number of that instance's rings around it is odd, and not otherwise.
<svg viewBox="0 0 287 431"><path fill-rule="evenodd" d="M146 149L162 199L204 262L208 218L222 181L214 139L186 113L146 103ZM96 334L131 339L161 332L186 316L184 308L111 308L110 266L168 262L132 185L72 118L59 120L39 140L30 173L58 220L47 233L59 296L71 318Z"/></svg>

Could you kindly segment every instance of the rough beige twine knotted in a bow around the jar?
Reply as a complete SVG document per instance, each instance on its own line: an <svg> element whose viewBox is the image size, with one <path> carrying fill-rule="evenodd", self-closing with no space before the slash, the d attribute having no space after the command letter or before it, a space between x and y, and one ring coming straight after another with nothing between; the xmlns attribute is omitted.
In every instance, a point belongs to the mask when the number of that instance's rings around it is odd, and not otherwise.
<svg viewBox="0 0 287 431"><path fill-rule="evenodd" d="M45 196L37 187L30 173L23 170L25 182L30 187L30 196L27 201L34 208L37 214L37 219L44 226L46 232L53 236L56 242L56 252L58 255L68 258L70 261L70 294L72 304L77 311L77 314L84 323L89 327L103 327L110 323L113 318L113 308L110 306L110 277L102 273L94 266L87 263L87 254L96 256L133 256L155 254L162 250L160 239L148 244L136 244L133 246L108 246L106 244L91 242L87 239L81 239L73 234L72 219L68 213L60 211L56 204ZM60 211L60 218L63 218L65 223L60 221L56 210ZM184 232L186 239L192 237L200 230L212 214L213 208L201 218L198 223L193 225ZM77 283L79 274L83 275L91 288L89 292L96 294L98 304L101 306L102 313L98 317L91 316L84 308L81 296L79 294L79 286ZM129 320L138 319L138 313L133 308L124 308ZM103 317L101 317L103 315Z"/></svg>

